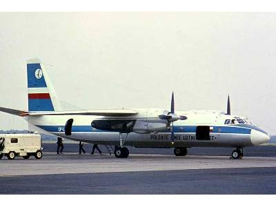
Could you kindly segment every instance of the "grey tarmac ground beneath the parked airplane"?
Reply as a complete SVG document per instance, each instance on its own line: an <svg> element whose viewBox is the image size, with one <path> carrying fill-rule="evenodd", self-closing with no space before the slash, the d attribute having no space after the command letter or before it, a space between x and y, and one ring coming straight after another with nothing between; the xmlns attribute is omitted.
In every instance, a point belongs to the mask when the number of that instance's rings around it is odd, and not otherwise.
<svg viewBox="0 0 276 207"><path fill-rule="evenodd" d="M224 148L213 154L207 148L191 148L185 157L168 154L172 149L146 154L130 148L127 159L117 159L107 153L78 155L69 145L63 155L44 147L40 160L0 160L0 194L276 193L275 147L252 148L257 156L246 156L245 151L243 159L230 159L232 149ZM195 155L197 150L208 153Z"/></svg>

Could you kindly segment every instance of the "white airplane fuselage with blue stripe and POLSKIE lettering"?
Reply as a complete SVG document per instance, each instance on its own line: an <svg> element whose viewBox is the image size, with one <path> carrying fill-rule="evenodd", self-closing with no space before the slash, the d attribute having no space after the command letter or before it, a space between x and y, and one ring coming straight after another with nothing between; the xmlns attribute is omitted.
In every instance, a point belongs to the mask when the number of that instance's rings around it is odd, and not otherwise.
<svg viewBox="0 0 276 207"><path fill-rule="evenodd" d="M134 119L136 132L123 134L124 146L141 148L174 148L193 146L225 146L245 147L259 145L269 141L269 135L253 124L225 124L226 119L237 119L233 115L210 110L178 111L178 115L185 115L188 119L174 122L174 141L170 139L170 130L154 131L152 128L160 124L161 109L135 109L137 115L131 117L116 117L117 119ZM65 137L76 141L85 141L93 144L109 144L119 146L119 132L98 130L92 128L91 122L97 119L113 119L90 115L41 115L27 116L26 120L38 128L50 132L52 135ZM65 125L68 119L73 119L72 134L65 135ZM208 140L199 139L198 126L209 126ZM147 133L150 131L150 133Z"/></svg>

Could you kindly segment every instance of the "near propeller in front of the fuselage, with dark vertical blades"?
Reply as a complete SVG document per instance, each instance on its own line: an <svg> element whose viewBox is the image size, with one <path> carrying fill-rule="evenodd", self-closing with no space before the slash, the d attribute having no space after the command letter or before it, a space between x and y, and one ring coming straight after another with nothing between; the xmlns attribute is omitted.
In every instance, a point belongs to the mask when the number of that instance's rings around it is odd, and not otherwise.
<svg viewBox="0 0 276 207"><path fill-rule="evenodd" d="M171 134L170 134L170 140L172 141L172 144L174 144L174 139L175 139L175 132L173 130L173 122L177 121L177 120L185 120L187 119L187 117L185 116L179 116L177 114L175 114L175 96L172 92L172 99L170 101L170 112L168 112L167 110L164 111L163 115L159 115L158 116L159 119L164 119L168 121L168 127L171 127Z"/></svg>

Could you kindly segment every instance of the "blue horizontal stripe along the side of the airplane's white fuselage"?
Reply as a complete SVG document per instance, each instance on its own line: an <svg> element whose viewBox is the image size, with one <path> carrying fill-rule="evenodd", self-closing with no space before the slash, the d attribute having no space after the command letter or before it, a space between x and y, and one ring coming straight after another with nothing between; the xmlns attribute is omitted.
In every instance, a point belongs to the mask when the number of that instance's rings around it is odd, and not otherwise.
<svg viewBox="0 0 276 207"><path fill-rule="evenodd" d="M48 132L64 132L64 126L39 126L39 125L36 125L36 126ZM196 128L197 126L174 126L174 132L195 133ZM111 132L111 131L98 130L96 128L92 128L92 126L72 126L72 132ZM250 132L251 132L251 128L241 128L241 127L235 127L235 126L213 126L213 133L250 134Z"/></svg>

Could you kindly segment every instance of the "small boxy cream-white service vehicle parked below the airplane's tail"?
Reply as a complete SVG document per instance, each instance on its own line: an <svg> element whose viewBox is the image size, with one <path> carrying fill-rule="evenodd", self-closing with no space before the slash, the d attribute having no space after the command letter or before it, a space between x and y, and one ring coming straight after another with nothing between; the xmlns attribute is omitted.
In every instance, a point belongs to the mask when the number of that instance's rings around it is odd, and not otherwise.
<svg viewBox="0 0 276 207"><path fill-rule="evenodd" d="M0 134L0 159L6 155L8 159L21 156L28 159L34 155L41 159L41 136L36 132L33 134Z"/></svg>

